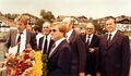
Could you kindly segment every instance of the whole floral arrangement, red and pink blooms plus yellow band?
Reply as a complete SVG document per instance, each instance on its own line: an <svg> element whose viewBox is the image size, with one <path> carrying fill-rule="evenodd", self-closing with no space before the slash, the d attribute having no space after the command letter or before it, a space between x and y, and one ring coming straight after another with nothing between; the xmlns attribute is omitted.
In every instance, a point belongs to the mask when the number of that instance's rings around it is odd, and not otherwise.
<svg viewBox="0 0 131 76"><path fill-rule="evenodd" d="M31 46L20 54L12 53L15 49L7 55L7 76L47 76L47 54L34 51Z"/></svg>

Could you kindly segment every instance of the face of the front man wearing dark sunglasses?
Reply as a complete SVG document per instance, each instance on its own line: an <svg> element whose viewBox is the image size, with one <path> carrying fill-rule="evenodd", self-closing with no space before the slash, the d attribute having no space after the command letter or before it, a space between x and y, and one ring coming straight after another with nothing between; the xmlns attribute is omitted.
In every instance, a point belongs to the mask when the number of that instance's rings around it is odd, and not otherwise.
<svg viewBox="0 0 131 76"><path fill-rule="evenodd" d="M58 40L58 39L61 38L62 33L59 31L59 29L58 29L57 26L51 27L50 31L51 31L51 33L50 33L50 34L51 34L51 38L52 38L53 40Z"/></svg>

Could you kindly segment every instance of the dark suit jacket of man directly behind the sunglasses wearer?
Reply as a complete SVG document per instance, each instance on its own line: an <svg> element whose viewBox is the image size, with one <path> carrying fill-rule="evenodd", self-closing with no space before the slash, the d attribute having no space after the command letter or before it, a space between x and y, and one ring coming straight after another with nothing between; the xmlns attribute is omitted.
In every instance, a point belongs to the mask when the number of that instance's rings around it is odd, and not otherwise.
<svg viewBox="0 0 131 76"><path fill-rule="evenodd" d="M72 66L71 72L72 76L78 76L79 73L85 73L85 65L86 65L86 51L85 45L76 31L73 30L69 38L69 45L72 49Z"/></svg>

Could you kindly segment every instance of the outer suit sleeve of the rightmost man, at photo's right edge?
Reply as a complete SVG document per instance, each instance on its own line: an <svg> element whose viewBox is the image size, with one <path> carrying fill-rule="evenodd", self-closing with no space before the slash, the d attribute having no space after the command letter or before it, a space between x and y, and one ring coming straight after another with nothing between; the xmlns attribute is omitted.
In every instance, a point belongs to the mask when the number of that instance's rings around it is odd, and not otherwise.
<svg viewBox="0 0 131 76"><path fill-rule="evenodd" d="M122 39L122 76L129 76L130 69L130 41L129 37L124 36Z"/></svg>

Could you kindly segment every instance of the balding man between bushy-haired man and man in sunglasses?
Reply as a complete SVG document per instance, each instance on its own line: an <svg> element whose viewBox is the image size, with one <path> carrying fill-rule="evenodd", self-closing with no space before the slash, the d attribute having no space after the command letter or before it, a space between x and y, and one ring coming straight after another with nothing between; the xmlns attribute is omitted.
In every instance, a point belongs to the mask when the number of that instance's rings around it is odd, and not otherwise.
<svg viewBox="0 0 131 76"><path fill-rule="evenodd" d="M51 26L51 23L49 22L45 22L43 24L44 36L39 38L39 46L38 46L38 49L41 50L47 55L49 54L50 48L55 42L50 36L50 26Z"/></svg>

